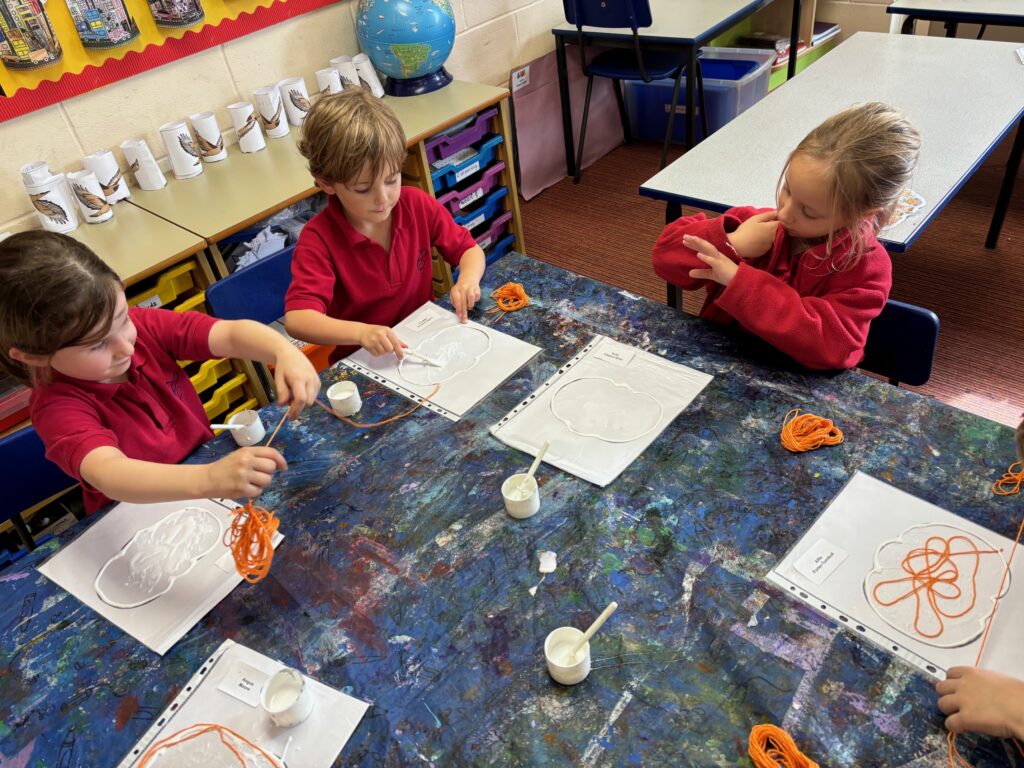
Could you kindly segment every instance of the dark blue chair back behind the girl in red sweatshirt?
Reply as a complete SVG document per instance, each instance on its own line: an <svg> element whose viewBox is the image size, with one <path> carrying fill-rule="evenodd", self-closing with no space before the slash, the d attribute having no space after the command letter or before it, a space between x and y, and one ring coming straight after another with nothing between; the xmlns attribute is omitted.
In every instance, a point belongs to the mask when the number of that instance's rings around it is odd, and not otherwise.
<svg viewBox="0 0 1024 768"><path fill-rule="evenodd" d="M921 386L932 376L939 317L931 309L890 299L871 322L859 368L890 384Z"/></svg>

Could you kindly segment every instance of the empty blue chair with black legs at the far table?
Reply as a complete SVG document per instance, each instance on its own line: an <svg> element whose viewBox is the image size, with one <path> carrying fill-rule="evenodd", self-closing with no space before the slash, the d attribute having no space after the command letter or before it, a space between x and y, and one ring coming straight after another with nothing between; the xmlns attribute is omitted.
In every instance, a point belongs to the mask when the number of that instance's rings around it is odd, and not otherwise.
<svg viewBox="0 0 1024 768"><path fill-rule="evenodd" d="M580 142L577 147L574 183L580 182L583 165L583 147L587 139L587 118L590 114L590 97L594 89L594 78L602 77L611 80L618 101L618 116L623 121L623 134L626 142L632 141L629 118L626 115L626 102L623 99L623 80L642 80L649 83L652 80L672 78L675 85L672 89L672 105L669 111L669 124L665 129L665 141L662 144L662 164L665 168L669 159L669 143L672 141L672 126L676 119L676 105L679 102L679 84L682 80L686 62L679 51L658 51L644 49L640 41L638 29L650 27L652 17L649 0L562 0L565 20L575 25L577 47L580 49L580 65L587 76L587 98L583 106L583 123L580 125ZM683 12L683 11L680 11ZM625 29L633 31L632 49L612 49L602 51L587 63L587 45L584 27L604 29ZM699 99L700 120L703 135L708 135L708 116L705 114L703 79L700 77L700 65L696 68L697 96Z"/></svg>

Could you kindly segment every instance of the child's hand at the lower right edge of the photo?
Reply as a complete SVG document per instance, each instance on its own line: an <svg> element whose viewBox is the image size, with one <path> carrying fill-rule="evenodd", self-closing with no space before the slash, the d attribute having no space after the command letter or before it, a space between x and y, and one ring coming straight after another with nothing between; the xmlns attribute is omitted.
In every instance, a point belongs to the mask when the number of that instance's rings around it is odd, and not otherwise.
<svg viewBox="0 0 1024 768"><path fill-rule="evenodd" d="M1024 680L977 667L951 667L935 690L952 733L1024 736Z"/></svg>

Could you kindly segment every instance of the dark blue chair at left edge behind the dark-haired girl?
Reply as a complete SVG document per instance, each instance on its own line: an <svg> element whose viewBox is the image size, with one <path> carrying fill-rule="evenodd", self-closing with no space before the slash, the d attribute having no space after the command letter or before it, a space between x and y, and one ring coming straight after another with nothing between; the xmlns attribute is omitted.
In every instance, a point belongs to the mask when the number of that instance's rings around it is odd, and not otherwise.
<svg viewBox="0 0 1024 768"><path fill-rule="evenodd" d="M0 522L10 520L25 547L35 549L36 541L22 512L74 487L76 481L46 458L43 441L32 427L0 437L0 467L4 487Z"/></svg>

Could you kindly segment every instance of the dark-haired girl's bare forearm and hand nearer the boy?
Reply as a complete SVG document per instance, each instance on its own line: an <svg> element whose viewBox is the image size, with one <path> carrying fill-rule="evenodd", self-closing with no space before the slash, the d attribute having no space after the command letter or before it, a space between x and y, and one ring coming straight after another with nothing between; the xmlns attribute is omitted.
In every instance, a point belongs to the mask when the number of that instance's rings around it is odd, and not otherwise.
<svg viewBox="0 0 1024 768"><path fill-rule="evenodd" d="M210 330L215 357L242 357L273 366L278 404L291 401L294 419L311 406L321 381L312 364L281 334L253 321L220 321Z"/></svg>

